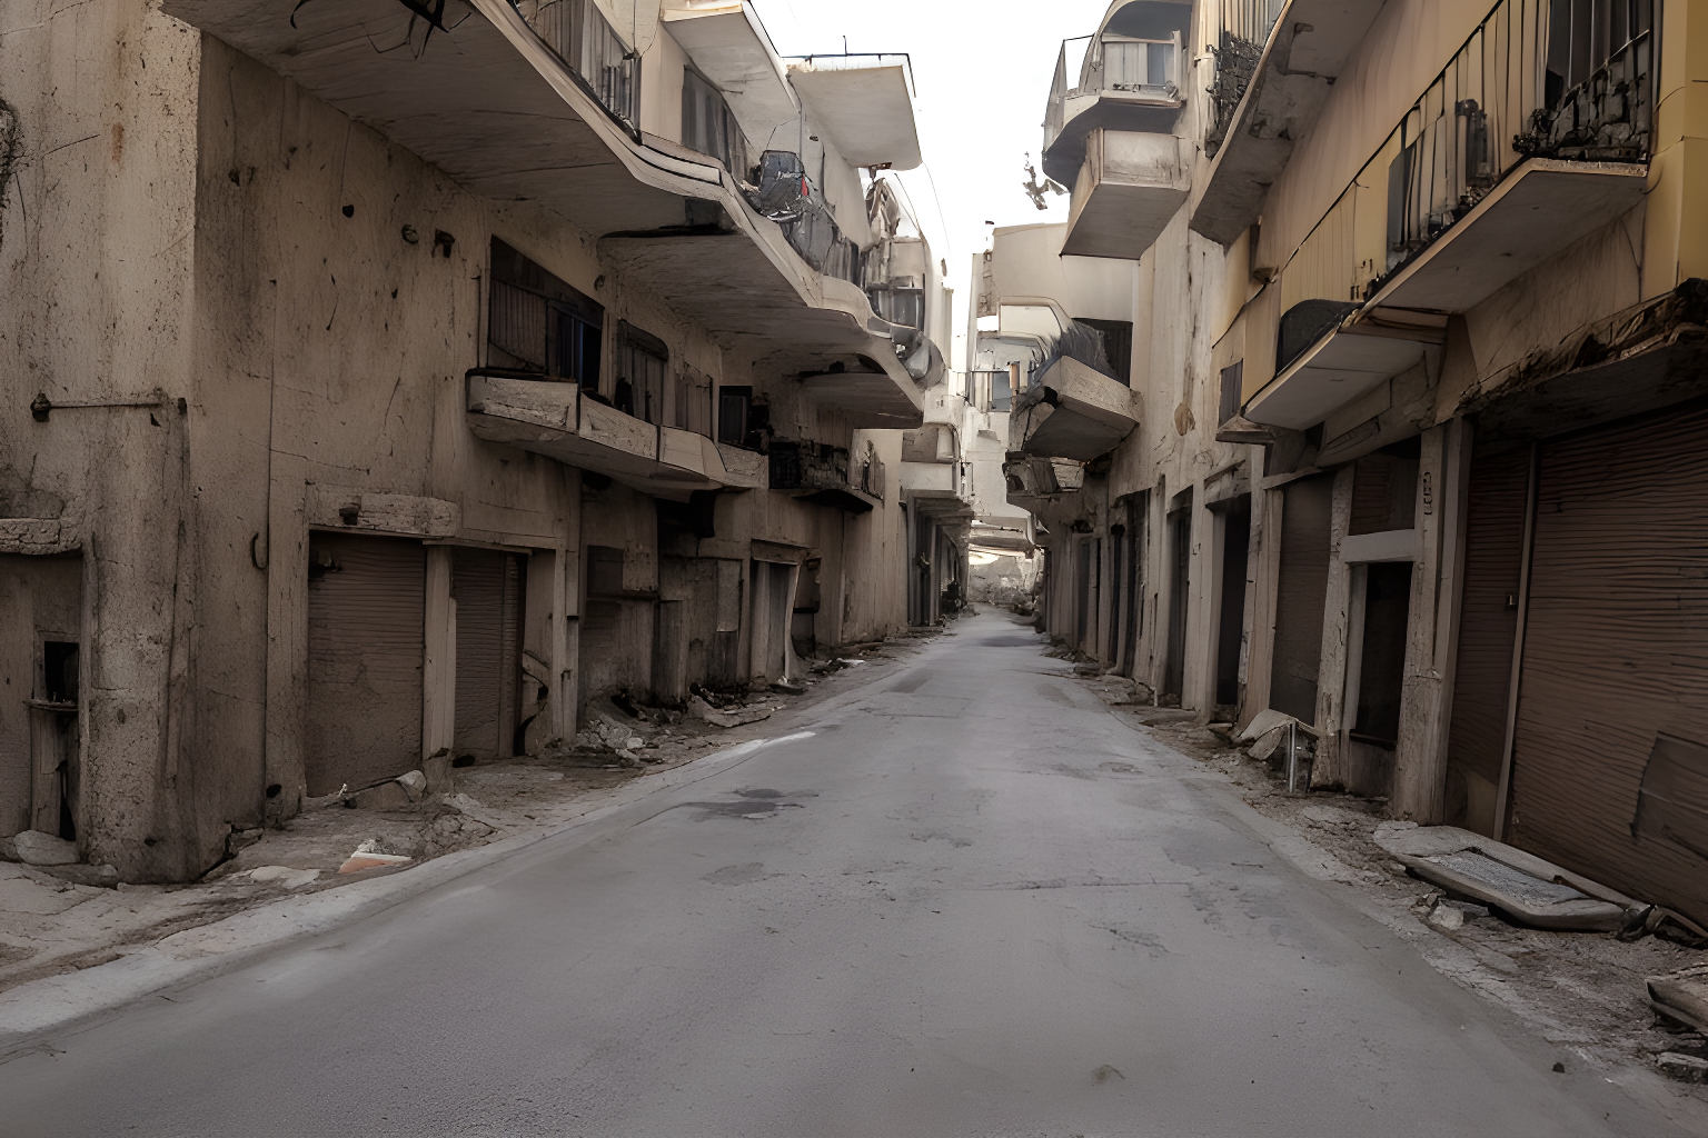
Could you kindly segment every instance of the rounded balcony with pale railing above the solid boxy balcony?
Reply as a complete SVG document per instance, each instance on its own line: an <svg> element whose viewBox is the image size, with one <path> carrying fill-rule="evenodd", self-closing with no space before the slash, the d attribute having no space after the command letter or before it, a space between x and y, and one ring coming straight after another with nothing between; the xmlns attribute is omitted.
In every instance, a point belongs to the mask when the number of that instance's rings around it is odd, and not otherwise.
<svg viewBox="0 0 1708 1138"><path fill-rule="evenodd" d="M1180 44L1190 14L1190 3L1136 0L1114 9L1097 34L1062 41L1044 113L1049 177L1074 183L1093 130L1173 131L1185 106Z"/></svg>

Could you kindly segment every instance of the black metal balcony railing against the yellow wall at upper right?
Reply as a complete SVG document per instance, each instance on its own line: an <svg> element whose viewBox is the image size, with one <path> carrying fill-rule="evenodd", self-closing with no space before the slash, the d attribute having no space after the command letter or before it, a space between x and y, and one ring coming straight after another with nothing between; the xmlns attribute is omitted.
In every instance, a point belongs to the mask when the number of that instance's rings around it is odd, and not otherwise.
<svg viewBox="0 0 1708 1138"><path fill-rule="evenodd" d="M1392 154L1387 271L1529 157L1645 162L1653 0L1503 0L1413 104ZM1370 171L1380 177L1380 171Z"/></svg>

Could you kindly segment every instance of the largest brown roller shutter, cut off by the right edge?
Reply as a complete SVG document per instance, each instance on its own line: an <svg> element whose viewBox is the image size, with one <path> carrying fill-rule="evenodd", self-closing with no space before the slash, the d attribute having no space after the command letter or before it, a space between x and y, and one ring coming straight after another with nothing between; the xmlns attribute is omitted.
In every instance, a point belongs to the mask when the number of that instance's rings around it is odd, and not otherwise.
<svg viewBox="0 0 1708 1138"><path fill-rule="evenodd" d="M1705 486L1705 408L1544 444L1508 831L1698 921L1708 921ZM1665 824L1645 824L1640 792L1667 798L1648 814Z"/></svg>

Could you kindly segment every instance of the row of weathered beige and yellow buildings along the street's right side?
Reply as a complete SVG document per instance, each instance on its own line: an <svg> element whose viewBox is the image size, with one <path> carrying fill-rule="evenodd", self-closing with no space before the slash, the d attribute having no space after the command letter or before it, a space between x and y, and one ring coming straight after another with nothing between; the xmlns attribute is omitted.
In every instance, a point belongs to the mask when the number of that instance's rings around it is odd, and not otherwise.
<svg viewBox="0 0 1708 1138"><path fill-rule="evenodd" d="M1049 630L1708 916L1705 82L1703 0L1138 0L1064 44L1059 276L991 256L1057 317L1114 258L1134 350L1129 389L1062 326L1016 398Z"/></svg>

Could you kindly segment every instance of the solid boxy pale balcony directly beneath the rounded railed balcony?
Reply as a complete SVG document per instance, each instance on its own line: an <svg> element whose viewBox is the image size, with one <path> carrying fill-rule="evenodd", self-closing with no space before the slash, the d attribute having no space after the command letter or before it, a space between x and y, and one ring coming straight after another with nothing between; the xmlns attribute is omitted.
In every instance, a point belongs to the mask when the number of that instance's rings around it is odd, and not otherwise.
<svg viewBox="0 0 1708 1138"><path fill-rule="evenodd" d="M1192 157L1192 143L1173 135L1090 131L1062 254L1138 261L1185 205Z"/></svg>

